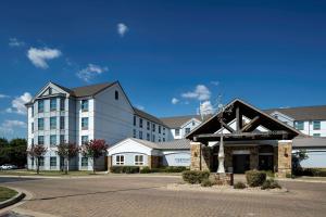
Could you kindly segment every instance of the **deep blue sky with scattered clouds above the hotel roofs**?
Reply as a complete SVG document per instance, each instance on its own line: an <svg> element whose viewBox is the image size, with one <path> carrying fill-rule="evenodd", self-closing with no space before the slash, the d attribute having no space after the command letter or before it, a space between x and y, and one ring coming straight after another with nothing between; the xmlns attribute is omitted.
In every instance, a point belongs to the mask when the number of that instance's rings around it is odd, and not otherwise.
<svg viewBox="0 0 326 217"><path fill-rule="evenodd" d="M22 104L49 80L120 80L156 116L220 93L261 108L326 104L325 23L322 1L1 1L0 136L25 137Z"/></svg>

